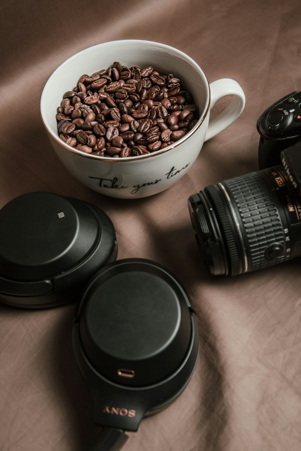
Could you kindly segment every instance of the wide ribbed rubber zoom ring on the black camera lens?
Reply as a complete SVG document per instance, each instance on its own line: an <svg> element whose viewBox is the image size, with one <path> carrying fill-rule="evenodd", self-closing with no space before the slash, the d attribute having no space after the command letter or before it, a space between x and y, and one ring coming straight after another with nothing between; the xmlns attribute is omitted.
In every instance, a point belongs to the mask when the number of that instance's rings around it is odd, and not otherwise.
<svg viewBox="0 0 301 451"><path fill-rule="evenodd" d="M230 198L235 199L244 231L252 270L282 262L285 256L268 259L266 249L275 242L286 248L283 224L270 187L258 172L225 180ZM251 261L250 261L251 260Z"/></svg>

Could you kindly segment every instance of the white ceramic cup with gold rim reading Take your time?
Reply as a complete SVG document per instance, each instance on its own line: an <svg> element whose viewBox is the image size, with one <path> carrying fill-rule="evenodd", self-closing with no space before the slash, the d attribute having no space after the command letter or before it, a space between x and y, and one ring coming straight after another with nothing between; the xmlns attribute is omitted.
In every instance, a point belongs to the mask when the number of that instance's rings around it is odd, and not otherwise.
<svg viewBox="0 0 301 451"><path fill-rule="evenodd" d="M143 69L153 66L181 79L199 111L199 120L181 139L150 154L109 158L81 152L58 135L56 109L64 92L77 86L82 74L107 68L114 61ZM209 123L210 109L221 97L233 95L229 106ZM213 83L185 53L159 42L126 40L98 44L62 63L48 79L41 95L41 116L50 142L64 166L89 188L117 198L142 198L160 193L176 183L192 166L207 139L231 125L242 113L245 95L231 78Z"/></svg>

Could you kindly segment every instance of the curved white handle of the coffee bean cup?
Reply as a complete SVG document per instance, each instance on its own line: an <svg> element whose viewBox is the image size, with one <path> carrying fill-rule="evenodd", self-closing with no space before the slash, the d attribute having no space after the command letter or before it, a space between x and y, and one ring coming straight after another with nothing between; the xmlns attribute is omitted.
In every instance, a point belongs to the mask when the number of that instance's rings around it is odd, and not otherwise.
<svg viewBox="0 0 301 451"><path fill-rule="evenodd" d="M246 97L242 87L232 78L221 78L210 83L210 110L221 97L233 95L230 105L209 122L205 141L223 131L242 114Z"/></svg>

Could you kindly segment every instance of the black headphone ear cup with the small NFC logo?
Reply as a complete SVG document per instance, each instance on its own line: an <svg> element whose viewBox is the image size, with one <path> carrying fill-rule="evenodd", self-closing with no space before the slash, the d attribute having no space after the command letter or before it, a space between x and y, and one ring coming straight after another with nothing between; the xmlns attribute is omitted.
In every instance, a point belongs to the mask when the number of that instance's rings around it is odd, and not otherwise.
<svg viewBox="0 0 301 451"><path fill-rule="evenodd" d="M114 226L104 212L53 193L28 193L6 204L0 236L0 300L18 307L74 302L117 256Z"/></svg>

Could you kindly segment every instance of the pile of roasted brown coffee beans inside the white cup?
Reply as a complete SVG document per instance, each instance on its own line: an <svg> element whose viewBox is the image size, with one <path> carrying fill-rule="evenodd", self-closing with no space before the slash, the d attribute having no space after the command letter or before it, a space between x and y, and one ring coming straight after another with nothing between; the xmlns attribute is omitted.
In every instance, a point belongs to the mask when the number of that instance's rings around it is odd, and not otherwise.
<svg viewBox="0 0 301 451"><path fill-rule="evenodd" d="M92 155L140 156L163 149L196 124L197 107L179 78L151 66L84 74L57 108L59 137Z"/></svg>

